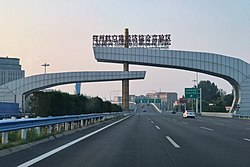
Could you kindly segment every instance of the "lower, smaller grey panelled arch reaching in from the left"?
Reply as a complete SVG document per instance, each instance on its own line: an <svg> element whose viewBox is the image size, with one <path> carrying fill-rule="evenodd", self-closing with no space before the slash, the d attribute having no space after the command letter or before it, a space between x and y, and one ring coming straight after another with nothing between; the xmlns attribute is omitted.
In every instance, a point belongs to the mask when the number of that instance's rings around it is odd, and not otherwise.
<svg viewBox="0 0 250 167"><path fill-rule="evenodd" d="M89 71L34 75L0 86L0 101L19 103L24 111L25 97L38 90L76 82L119 81L144 79L145 71Z"/></svg>

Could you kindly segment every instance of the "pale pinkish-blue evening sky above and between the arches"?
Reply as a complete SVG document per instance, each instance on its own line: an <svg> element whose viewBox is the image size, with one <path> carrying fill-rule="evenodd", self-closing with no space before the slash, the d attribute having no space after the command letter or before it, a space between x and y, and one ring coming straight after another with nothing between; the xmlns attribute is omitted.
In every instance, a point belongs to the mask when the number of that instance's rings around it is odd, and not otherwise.
<svg viewBox="0 0 250 167"><path fill-rule="evenodd" d="M122 70L121 64L94 58L95 34L171 34L171 50L222 54L250 63L249 0L0 0L0 56L20 58L26 76L73 71ZM130 65L147 71L130 81L130 94L165 91L181 97L196 73ZM220 78L198 74L231 93ZM74 92L74 85L55 87ZM109 100L121 94L121 81L83 83L81 93Z"/></svg>

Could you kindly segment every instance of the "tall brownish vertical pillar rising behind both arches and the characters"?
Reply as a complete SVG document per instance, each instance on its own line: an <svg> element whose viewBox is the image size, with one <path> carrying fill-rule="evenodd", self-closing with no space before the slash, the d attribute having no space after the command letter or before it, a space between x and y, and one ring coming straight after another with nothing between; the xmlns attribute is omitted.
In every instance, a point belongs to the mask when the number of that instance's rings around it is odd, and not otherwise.
<svg viewBox="0 0 250 167"><path fill-rule="evenodd" d="M124 47L129 48L129 31L125 28ZM129 64L123 64L123 71L129 71ZM122 80L122 108L129 110L129 80Z"/></svg>

